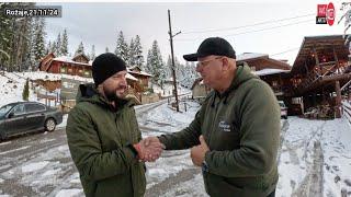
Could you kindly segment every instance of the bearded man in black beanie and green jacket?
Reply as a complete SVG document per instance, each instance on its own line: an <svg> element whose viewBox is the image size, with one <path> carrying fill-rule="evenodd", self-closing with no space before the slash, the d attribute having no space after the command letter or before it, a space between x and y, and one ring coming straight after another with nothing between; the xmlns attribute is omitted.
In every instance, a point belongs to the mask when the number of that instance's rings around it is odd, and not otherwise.
<svg viewBox="0 0 351 197"><path fill-rule="evenodd" d="M92 63L94 84L82 84L77 105L69 113L67 139L86 196L144 196L145 164L155 161L162 144L148 147L126 99L125 62L102 54Z"/></svg>

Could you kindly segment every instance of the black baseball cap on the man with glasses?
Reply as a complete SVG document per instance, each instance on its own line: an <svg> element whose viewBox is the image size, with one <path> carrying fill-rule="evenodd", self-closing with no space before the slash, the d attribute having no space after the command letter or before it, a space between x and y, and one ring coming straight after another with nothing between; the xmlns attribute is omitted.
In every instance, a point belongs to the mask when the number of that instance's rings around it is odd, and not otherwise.
<svg viewBox="0 0 351 197"><path fill-rule="evenodd" d="M206 56L226 56L236 59L235 50L231 45L222 37L208 37L201 43L196 54L184 55L186 61L197 61L197 58Z"/></svg>

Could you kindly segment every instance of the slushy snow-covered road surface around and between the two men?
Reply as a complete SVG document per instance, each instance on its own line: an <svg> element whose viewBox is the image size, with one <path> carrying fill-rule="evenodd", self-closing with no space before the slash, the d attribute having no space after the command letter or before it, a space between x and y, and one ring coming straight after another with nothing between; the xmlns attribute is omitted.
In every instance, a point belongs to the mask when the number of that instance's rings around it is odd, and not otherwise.
<svg viewBox="0 0 351 197"><path fill-rule="evenodd" d="M137 109L143 136L185 127L199 105L174 113L167 104ZM282 120L278 197L351 196L351 129L343 119ZM147 163L146 197L206 196L189 150L165 151ZM0 143L0 196L83 196L64 129ZM343 197L342 196L342 197Z"/></svg>

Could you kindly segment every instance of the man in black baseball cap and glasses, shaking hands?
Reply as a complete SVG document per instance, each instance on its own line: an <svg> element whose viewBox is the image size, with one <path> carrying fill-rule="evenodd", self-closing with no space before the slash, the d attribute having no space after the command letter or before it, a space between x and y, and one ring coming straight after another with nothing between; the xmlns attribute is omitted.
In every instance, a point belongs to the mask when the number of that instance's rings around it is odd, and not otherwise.
<svg viewBox="0 0 351 197"><path fill-rule="evenodd" d="M280 107L271 88L247 63L237 65L224 38L206 38L196 54L183 57L197 61L196 71L213 91L189 127L149 137L146 143L160 141L166 150L191 148L211 196L274 196Z"/></svg>

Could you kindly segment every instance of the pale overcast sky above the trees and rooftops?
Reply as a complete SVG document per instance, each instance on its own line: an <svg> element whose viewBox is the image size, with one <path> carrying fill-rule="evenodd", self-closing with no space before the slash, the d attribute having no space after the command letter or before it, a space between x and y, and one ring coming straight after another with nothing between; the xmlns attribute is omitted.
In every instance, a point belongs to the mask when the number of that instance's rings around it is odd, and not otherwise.
<svg viewBox="0 0 351 197"><path fill-rule="evenodd" d="M171 11L174 55L194 53L210 36L226 38L237 54L262 53L293 63L304 36L343 34L342 1L332 1L336 22L332 26L316 24L317 4L312 2L70 2L63 5L63 18L47 19L47 40L54 40L67 28L69 51L83 42L87 53L95 45L95 54L105 47L114 51L117 34L123 31L127 43L140 36L144 56L152 40L158 40L163 60L170 54L167 10ZM44 3L38 3L44 4ZM293 19L295 18L295 19ZM257 25L258 24L258 25ZM244 26L244 27L242 27ZM290 50L288 53L284 53ZM281 54L282 53L282 54Z"/></svg>

